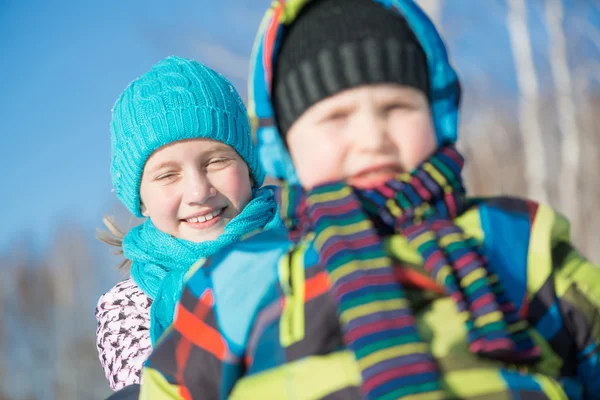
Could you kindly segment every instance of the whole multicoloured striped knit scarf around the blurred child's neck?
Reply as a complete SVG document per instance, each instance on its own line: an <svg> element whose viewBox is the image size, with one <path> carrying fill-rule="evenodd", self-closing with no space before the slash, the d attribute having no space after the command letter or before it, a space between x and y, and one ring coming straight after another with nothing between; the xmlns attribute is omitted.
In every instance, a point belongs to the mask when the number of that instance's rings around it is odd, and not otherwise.
<svg viewBox="0 0 600 400"><path fill-rule="evenodd" d="M385 234L406 237L431 278L454 299L471 352L516 364L539 359L527 322L487 268L476 240L453 222L467 207L463 163L453 147L443 147L410 174L374 189L337 182L306 193L299 186L279 192L291 239L315 234L344 341L355 354L368 399L444 397L437 364L384 252Z"/></svg>

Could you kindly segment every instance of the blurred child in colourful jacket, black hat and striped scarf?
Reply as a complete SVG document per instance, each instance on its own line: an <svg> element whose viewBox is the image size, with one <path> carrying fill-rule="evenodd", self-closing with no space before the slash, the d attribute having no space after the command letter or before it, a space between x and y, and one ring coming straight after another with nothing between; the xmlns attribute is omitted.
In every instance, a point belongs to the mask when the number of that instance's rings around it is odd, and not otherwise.
<svg viewBox="0 0 600 400"><path fill-rule="evenodd" d="M465 197L421 10L279 1L262 28L250 113L289 232L190 272L142 398L600 398L600 270L550 208Z"/></svg>

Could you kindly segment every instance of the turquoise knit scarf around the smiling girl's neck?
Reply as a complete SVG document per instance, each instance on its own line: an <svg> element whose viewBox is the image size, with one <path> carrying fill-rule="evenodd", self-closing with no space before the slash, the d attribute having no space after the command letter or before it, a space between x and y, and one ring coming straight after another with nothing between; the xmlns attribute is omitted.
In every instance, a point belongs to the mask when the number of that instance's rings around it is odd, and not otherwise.
<svg viewBox="0 0 600 400"><path fill-rule="evenodd" d="M184 277L199 259L209 257L248 233L280 226L273 187L253 192L253 199L216 239L193 243L158 230L148 218L123 239L123 253L133 264L131 277L153 300L150 308L152 345L173 322Z"/></svg>

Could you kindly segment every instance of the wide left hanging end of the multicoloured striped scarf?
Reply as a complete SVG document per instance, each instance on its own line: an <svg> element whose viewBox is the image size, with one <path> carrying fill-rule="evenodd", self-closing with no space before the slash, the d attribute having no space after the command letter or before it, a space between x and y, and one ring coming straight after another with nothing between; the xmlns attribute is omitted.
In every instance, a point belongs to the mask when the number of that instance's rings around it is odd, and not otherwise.
<svg viewBox="0 0 600 400"><path fill-rule="evenodd" d="M319 262L329 274L365 398L443 398L429 346L419 337L392 262L351 189L343 184L318 188L307 204Z"/></svg>

